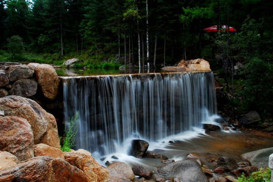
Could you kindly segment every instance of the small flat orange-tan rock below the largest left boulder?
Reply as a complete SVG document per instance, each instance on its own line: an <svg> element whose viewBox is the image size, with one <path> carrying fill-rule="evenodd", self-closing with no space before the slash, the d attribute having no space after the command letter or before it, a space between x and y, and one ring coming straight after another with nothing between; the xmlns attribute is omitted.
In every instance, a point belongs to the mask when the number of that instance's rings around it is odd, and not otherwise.
<svg viewBox="0 0 273 182"><path fill-rule="evenodd" d="M62 150L48 146L44 143L40 143L34 145L34 156L51 156L51 157L59 157L61 159L65 159L65 155Z"/></svg>

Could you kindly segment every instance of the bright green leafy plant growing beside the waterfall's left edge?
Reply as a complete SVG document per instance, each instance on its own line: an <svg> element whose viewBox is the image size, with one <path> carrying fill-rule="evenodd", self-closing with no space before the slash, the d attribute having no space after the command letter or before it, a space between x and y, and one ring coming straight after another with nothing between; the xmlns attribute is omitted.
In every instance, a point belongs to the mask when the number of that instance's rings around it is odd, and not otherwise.
<svg viewBox="0 0 273 182"><path fill-rule="evenodd" d="M77 112L73 117L68 119L69 126L66 125L65 135L60 138L60 140L63 140L63 144L61 144L61 150L63 152L70 152L71 147L75 146L75 137L78 132L78 115L79 113Z"/></svg>

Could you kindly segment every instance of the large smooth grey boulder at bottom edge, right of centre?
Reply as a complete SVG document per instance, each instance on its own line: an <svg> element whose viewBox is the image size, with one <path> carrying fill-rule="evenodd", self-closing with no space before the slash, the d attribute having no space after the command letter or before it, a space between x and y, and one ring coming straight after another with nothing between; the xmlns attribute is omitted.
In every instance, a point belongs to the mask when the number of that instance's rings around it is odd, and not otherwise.
<svg viewBox="0 0 273 182"><path fill-rule="evenodd" d="M208 182L199 163L191 159L168 164L157 171L164 176L180 178L182 182Z"/></svg>

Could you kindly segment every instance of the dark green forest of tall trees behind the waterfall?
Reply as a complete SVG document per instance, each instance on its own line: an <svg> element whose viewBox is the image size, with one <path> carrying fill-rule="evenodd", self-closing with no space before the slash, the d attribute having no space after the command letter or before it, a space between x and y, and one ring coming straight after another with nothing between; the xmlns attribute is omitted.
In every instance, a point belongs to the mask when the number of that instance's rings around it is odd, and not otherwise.
<svg viewBox="0 0 273 182"><path fill-rule="evenodd" d="M0 0L0 61L161 68L203 58L232 113L256 110L272 122L272 7L271 0ZM204 31L213 25L217 31Z"/></svg>

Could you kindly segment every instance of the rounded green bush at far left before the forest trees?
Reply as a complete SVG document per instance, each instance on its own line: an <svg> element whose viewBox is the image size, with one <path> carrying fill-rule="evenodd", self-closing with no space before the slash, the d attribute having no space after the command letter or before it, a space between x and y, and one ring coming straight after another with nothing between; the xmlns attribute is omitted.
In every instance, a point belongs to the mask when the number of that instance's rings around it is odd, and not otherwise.
<svg viewBox="0 0 273 182"><path fill-rule="evenodd" d="M9 53L12 54L13 59L16 57L20 57L21 54L24 52L24 43L23 39L18 36L14 35L7 39L7 50Z"/></svg>

